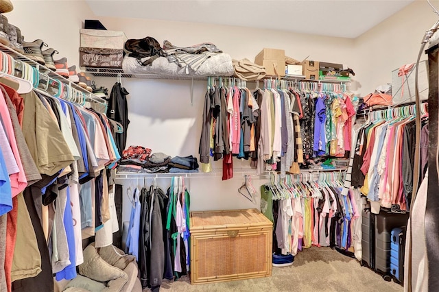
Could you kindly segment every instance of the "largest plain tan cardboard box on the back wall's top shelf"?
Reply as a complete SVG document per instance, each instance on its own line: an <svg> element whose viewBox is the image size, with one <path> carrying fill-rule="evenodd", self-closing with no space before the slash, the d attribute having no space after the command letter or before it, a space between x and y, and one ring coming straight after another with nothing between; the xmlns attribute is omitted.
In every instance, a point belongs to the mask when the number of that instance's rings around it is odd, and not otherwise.
<svg viewBox="0 0 439 292"><path fill-rule="evenodd" d="M264 48L254 57L254 64L264 66L267 75L285 76L285 51Z"/></svg>

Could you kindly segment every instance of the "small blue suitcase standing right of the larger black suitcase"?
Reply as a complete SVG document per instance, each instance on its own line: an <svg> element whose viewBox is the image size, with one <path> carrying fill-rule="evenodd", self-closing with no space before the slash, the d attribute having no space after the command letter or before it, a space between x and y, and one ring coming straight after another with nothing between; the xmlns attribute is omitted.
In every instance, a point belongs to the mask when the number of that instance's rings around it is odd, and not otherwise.
<svg viewBox="0 0 439 292"><path fill-rule="evenodd" d="M390 243L390 273L400 282L404 282L405 228L393 228Z"/></svg>

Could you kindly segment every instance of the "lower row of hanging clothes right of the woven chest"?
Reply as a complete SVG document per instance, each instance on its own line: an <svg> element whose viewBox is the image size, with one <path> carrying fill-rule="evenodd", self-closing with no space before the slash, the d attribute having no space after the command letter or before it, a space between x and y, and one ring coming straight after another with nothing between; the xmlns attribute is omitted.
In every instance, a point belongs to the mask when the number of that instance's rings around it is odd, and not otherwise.
<svg viewBox="0 0 439 292"><path fill-rule="evenodd" d="M296 255L313 245L348 250L361 244L355 236L361 233L363 205L359 193L342 195L342 182L338 173L309 180L274 175L261 186L261 211L274 222L273 252Z"/></svg>

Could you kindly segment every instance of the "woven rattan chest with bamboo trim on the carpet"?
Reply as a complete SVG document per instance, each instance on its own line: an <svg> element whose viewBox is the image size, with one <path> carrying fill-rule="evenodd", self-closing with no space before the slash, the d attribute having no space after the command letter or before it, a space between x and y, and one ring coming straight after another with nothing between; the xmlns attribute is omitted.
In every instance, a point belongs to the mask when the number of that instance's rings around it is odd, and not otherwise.
<svg viewBox="0 0 439 292"><path fill-rule="evenodd" d="M191 284L271 276L272 222L259 210L191 212Z"/></svg>

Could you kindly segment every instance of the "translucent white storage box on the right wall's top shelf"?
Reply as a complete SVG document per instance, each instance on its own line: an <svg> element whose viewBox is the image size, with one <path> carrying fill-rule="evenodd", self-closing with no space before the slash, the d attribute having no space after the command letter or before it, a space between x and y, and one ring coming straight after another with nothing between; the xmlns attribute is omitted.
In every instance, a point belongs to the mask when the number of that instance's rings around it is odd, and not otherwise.
<svg viewBox="0 0 439 292"><path fill-rule="evenodd" d="M392 71L392 102L393 104L404 104L415 101L414 76L416 72L416 64L412 70L407 72L405 76L398 76L399 69ZM428 63L427 60L419 62L418 71L418 88L420 100L428 99Z"/></svg>

